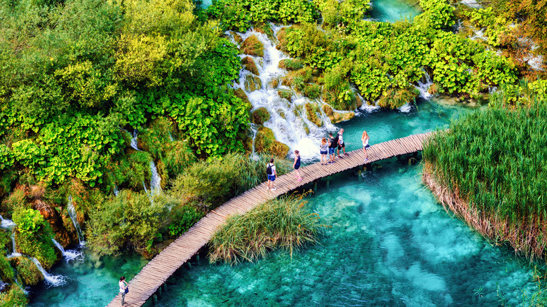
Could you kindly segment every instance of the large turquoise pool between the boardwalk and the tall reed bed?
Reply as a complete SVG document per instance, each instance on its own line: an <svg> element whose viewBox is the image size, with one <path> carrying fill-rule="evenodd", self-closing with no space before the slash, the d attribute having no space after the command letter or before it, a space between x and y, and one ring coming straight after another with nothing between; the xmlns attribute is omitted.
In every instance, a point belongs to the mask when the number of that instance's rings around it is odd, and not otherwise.
<svg viewBox="0 0 547 307"><path fill-rule="evenodd" d="M158 306L498 306L533 288L526 261L452 219L421 185L419 165L323 180L308 206L321 245L257 264L201 264L168 280ZM499 288L498 288L499 287ZM497 291L499 289L499 291ZM475 293L478 293L475 295Z"/></svg>

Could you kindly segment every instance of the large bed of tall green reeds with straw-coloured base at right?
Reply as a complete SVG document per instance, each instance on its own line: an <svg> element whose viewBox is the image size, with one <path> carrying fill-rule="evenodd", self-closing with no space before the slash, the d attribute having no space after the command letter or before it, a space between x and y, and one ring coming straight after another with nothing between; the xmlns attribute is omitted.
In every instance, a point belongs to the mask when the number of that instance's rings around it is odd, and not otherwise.
<svg viewBox="0 0 547 307"><path fill-rule="evenodd" d="M445 208L495 243L546 254L547 110L462 116L424 147L424 182Z"/></svg>

